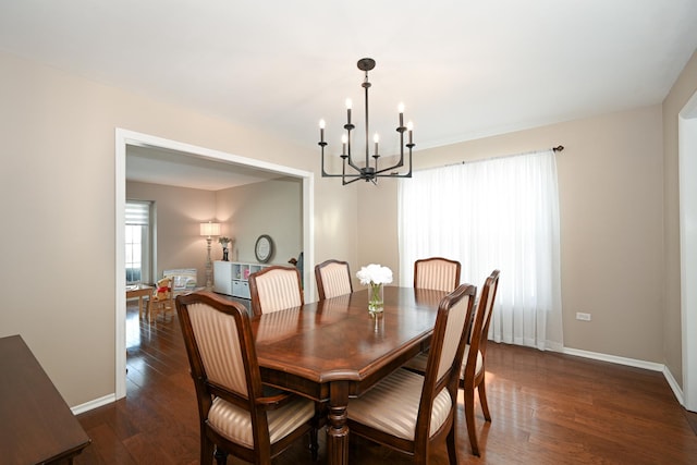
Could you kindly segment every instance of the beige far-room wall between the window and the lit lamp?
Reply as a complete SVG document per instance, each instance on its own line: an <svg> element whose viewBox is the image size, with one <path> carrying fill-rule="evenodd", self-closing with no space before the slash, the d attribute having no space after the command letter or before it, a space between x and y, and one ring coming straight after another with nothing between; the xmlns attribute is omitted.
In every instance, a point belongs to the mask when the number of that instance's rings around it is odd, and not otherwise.
<svg viewBox="0 0 697 465"><path fill-rule="evenodd" d="M126 199L155 201L157 259L152 282L161 278L164 270L196 268L197 281L204 285L206 238L200 235L199 224L216 220L216 193L129 181Z"/></svg>

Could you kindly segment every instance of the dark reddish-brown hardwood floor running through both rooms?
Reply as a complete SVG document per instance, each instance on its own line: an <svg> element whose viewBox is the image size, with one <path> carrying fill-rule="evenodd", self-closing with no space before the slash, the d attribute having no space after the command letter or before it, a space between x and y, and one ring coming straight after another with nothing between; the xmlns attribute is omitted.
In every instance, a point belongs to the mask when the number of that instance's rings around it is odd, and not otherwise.
<svg viewBox="0 0 697 465"><path fill-rule="evenodd" d="M198 413L176 316L150 326L138 321L133 305L126 399L78 416L93 443L75 463L196 464ZM680 406L659 372L490 343L487 390L493 421L486 424L477 407L480 458L469 453L461 394L461 464L697 464L688 420L694 414ZM274 463L311 463L305 442ZM350 460L409 463L357 439ZM326 463L323 441L319 463ZM444 446L431 463L448 463Z"/></svg>

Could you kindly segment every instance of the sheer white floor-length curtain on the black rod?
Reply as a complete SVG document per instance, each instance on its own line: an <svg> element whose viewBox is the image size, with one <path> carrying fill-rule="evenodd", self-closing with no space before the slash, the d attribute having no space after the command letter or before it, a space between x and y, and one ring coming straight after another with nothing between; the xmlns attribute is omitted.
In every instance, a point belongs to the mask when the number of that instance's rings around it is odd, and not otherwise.
<svg viewBox="0 0 697 465"><path fill-rule="evenodd" d="M401 285L414 261L462 264L479 290L501 270L489 338L561 351L559 194L552 150L417 171L399 183Z"/></svg>

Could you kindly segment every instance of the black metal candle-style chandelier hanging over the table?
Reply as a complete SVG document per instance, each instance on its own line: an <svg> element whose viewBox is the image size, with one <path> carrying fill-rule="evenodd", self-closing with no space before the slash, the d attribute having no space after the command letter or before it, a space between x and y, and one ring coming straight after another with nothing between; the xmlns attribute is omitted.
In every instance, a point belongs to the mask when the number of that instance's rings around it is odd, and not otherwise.
<svg viewBox="0 0 697 465"><path fill-rule="evenodd" d="M343 185L351 184L358 180L365 180L366 182L370 181L374 184L377 184L378 178L412 178L412 148L416 145L413 143L413 131L414 126L409 121L408 124L404 125L404 105L400 103L399 113L400 113L400 125L396 127L396 132L400 133L400 159L399 161L387 168L379 168L378 160L380 159L380 152L378 150L378 144L380 138L378 134L375 134L374 143L375 148L372 155L370 155L370 144L368 140L368 134L370 133L370 123L368 119L368 89L370 88L370 83L368 82L368 71L375 68L375 60L371 58L363 58L358 60L358 70L365 72L365 79L360 85L365 89L365 109L366 109L366 158L363 166L356 164L356 160L351 155L352 147L352 135L351 132L356 127L351 122L351 99L346 99L346 124L344 124L345 134L341 137L341 158L342 158L342 170L341 174L339 173L328 173L325 170L325 147L327 146L327 142L325 140L325 120L319 122L319 146L321 147L321 157L322 157L322 178L341 178L341 182ZM408 142L404 144L404 133L407 133ZM406 173L400 174L394 171L398 168L402 168L404 166L404 146L408 149L408 171ZM372 158L372 166L370 164L370 158ZM347 170L348 169L348 170ZM348 171L348 172L346 172Z"/></svg>

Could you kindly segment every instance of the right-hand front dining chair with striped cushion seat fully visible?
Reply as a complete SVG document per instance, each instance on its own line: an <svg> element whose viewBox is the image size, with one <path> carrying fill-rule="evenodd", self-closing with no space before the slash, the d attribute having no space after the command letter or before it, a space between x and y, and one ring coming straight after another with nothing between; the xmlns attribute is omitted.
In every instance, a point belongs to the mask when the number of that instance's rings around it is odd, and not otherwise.
<svg viewBox="0 0 697 465"><path fill-rule="evenodd" d="M462 284L440 302L426 372L398 369L352 399L348 429L427 464L435 444L445 442L457 463L457 381L469 331L476 287Z"/></svg>

